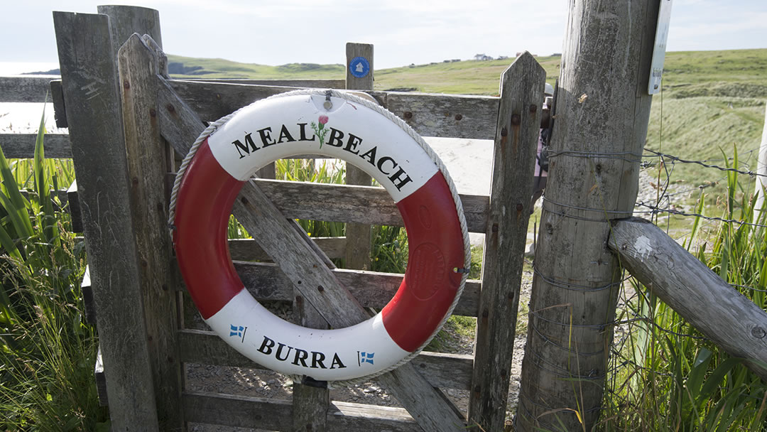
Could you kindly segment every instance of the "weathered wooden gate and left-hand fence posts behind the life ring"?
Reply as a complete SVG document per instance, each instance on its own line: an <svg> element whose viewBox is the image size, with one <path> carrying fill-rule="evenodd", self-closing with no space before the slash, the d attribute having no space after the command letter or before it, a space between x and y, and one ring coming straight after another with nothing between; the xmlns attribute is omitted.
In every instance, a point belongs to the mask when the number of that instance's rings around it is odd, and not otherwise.
<svg viewBox="0 0 767 432"><path fill-rule="evenodd" d="M361 82L351 75L345 82L173 80L157 42L156 11L100 6L99 12L54 12L61 81L3 79L0 98L35 101L32 94L50 87L57 124L69 128L69 134L46 136L46 155L74 159L77 185L67 195L86 239L84 284L91 285L87 295L95 307L88 306L89 315L95 315L100 337L99 376L106 377L100 394L108 400L114 430L171 430L187 422L268 430L501 430L542 118L545 73L532 56L522 55L505 71L500 97L372 91L372 77ZM347 45L347 56L360 54L372 61L372 46ZM187 362L261 367L185 319L196 312L166 227L176 160L205 120L299 86L364 89L423 136L495 141L492 192L461 196L469 231L486 233L482 280L466 283L454 312L478 318L476 353L423 351L377 378L404 409L330 401L326 386L299 382L291 401L189 391L184 384ZM31 157L34 142L30 135L0 135L6 157ZM241 196L233 213L258 239L229 242L242 282L259 300L292 302L302 325L359 322L368 316L363 308L382 308L400 285L402 275L335 269L330 262L347 258L350 249L369 248L364 242L370 224L402 226L383 189L260 179ZM292 229L291 219L359 229L356 238L309 240ZM290 253L286 242L295 246ZM275 264L254 262L266 256ZM294 283L289 268L295 262L318 269L301 276L323 285L324 298ZM469 391L469 412L460 413L444 389Z"/></svg>

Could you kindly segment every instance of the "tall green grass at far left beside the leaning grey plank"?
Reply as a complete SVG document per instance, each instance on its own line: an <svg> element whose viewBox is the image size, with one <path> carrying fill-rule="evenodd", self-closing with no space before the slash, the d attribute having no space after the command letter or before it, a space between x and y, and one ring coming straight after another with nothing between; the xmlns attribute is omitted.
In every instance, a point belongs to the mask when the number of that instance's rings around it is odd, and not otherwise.
<svg viewBox="0 0 767 432"><path fill-rule="evenodd" d="M33 160L0 149L0 430L108 428L84 320L84 245L50 192L71 182L71 161L46 160L43 141L41 121Z"/></svg>

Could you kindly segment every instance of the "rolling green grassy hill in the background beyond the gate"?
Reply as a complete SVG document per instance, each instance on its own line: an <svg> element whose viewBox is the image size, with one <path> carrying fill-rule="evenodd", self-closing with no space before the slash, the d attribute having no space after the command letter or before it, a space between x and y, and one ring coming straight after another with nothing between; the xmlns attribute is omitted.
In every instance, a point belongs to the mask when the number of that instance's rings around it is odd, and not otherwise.
<svg viewBox="0 0 767 432"><path fill-rule="evenodd" d="M558 56L538 57L546 80L559 76ZM265 66L222 59L169 56L184 74L174 77L344 79L342 64ZM450 94L498 94L499 77L514 61L456 61L375 71L375 89L415 88ZM737 147L742 168L755 169L767 100L767 49L667 53L663 94L653 98L647 148L683 159L723 165ZM663 116L661 117L661 112ZM724 173L676 163L673 180L693 187L723 180ZM723 186L709 189L721 193Z"/></svg>

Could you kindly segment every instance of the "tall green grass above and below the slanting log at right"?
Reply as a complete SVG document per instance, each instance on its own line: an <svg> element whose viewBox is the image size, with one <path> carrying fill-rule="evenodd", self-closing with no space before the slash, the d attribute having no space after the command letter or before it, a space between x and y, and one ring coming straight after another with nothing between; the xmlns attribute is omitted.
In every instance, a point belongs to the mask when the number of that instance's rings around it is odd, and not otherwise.
<svg viewBox="0 0 767 432"><path fill-rule="evenodd" d="M729 173L723 216L764 226L767 213L754 219L752 200L736 199L741 180L751 182ZM721 223L709 235L702 222L694 219L683 246L732 284L733 295L740 292L764 309L767 229ZM626 324L617 332L599 430L767 430L767 383L739 358L701 338L639 282L622 302L617 319Z"/></svg>

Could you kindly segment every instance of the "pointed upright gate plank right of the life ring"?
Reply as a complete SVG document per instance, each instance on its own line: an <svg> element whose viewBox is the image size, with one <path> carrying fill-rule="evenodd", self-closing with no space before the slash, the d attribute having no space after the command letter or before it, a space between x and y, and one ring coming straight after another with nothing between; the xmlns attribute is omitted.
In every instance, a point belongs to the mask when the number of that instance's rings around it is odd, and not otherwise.
<svg viewBox="0 0 767 432"><path fill-rule="evenodd" d="M503 430L546 72L525 51L501 76L482 260L471 430Z"/></svg>

